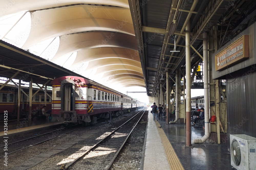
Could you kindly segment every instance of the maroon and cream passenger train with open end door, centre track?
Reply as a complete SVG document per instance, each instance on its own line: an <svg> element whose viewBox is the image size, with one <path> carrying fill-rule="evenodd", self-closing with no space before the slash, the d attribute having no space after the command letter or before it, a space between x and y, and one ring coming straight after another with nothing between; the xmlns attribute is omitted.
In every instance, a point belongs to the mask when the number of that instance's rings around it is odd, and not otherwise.
<svg viewBox="0 0 256 170"><path fill-rule="evenodd" d="M131 97L82 77L59 77L51 84L52 121L94 124L132 108Z"/></svg>

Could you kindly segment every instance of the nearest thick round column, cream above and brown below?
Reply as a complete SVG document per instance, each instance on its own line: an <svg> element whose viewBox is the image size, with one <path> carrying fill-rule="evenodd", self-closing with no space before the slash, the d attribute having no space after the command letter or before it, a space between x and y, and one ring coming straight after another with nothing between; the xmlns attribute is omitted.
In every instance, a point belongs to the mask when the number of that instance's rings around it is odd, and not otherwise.
<svg viewBox="0 0 256 170"><path fill-rule="evenodd" d="M186 26L186 146L191 146L190 22Z"/></svg>

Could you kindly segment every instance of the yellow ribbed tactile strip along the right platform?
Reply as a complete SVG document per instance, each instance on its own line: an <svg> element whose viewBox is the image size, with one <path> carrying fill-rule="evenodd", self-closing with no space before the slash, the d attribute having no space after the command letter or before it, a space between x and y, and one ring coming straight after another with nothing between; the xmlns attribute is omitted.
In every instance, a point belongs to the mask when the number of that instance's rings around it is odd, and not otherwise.
<svg viewBox="0 0 256 170"><path fill-rule="evenodd" d="M166 158L168 160L171 170L184 169L184 167L182 166L182 164L179 161L177 154L175 153L175 151L172 147L172 144L170 143L167 136L165 135L164 130L162 128L159 128L159 126L160 126L159 122L155 121L155 123L156 123L158 133L160 135L160 138L162 140Z"/></svg>

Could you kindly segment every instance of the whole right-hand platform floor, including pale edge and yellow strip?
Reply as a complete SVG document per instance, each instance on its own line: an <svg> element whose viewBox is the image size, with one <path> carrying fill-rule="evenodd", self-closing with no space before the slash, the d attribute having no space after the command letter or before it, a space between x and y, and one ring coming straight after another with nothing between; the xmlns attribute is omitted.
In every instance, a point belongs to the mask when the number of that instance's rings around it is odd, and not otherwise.
<svg viewBox="0 0 256 170"><path fill-rule="evenodd" d="M186 147L186 124L166 124L166 118L154 122L150 111L147 122L140 170L233 169L227 144L202 143ZM202 126L191 127L191 140L202 136Z"/></svg>

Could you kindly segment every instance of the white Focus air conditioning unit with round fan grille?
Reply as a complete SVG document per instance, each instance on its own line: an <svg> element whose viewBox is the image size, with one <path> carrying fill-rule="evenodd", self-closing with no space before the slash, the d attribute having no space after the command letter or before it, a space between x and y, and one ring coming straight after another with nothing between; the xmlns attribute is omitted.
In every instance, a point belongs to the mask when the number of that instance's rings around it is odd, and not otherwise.
<svg viewBox="0 0 256 170"><path fill-rule="evenodd" d="M248 135L230 135L231 165L240 170L256 169L256 138Z"/></svg>

